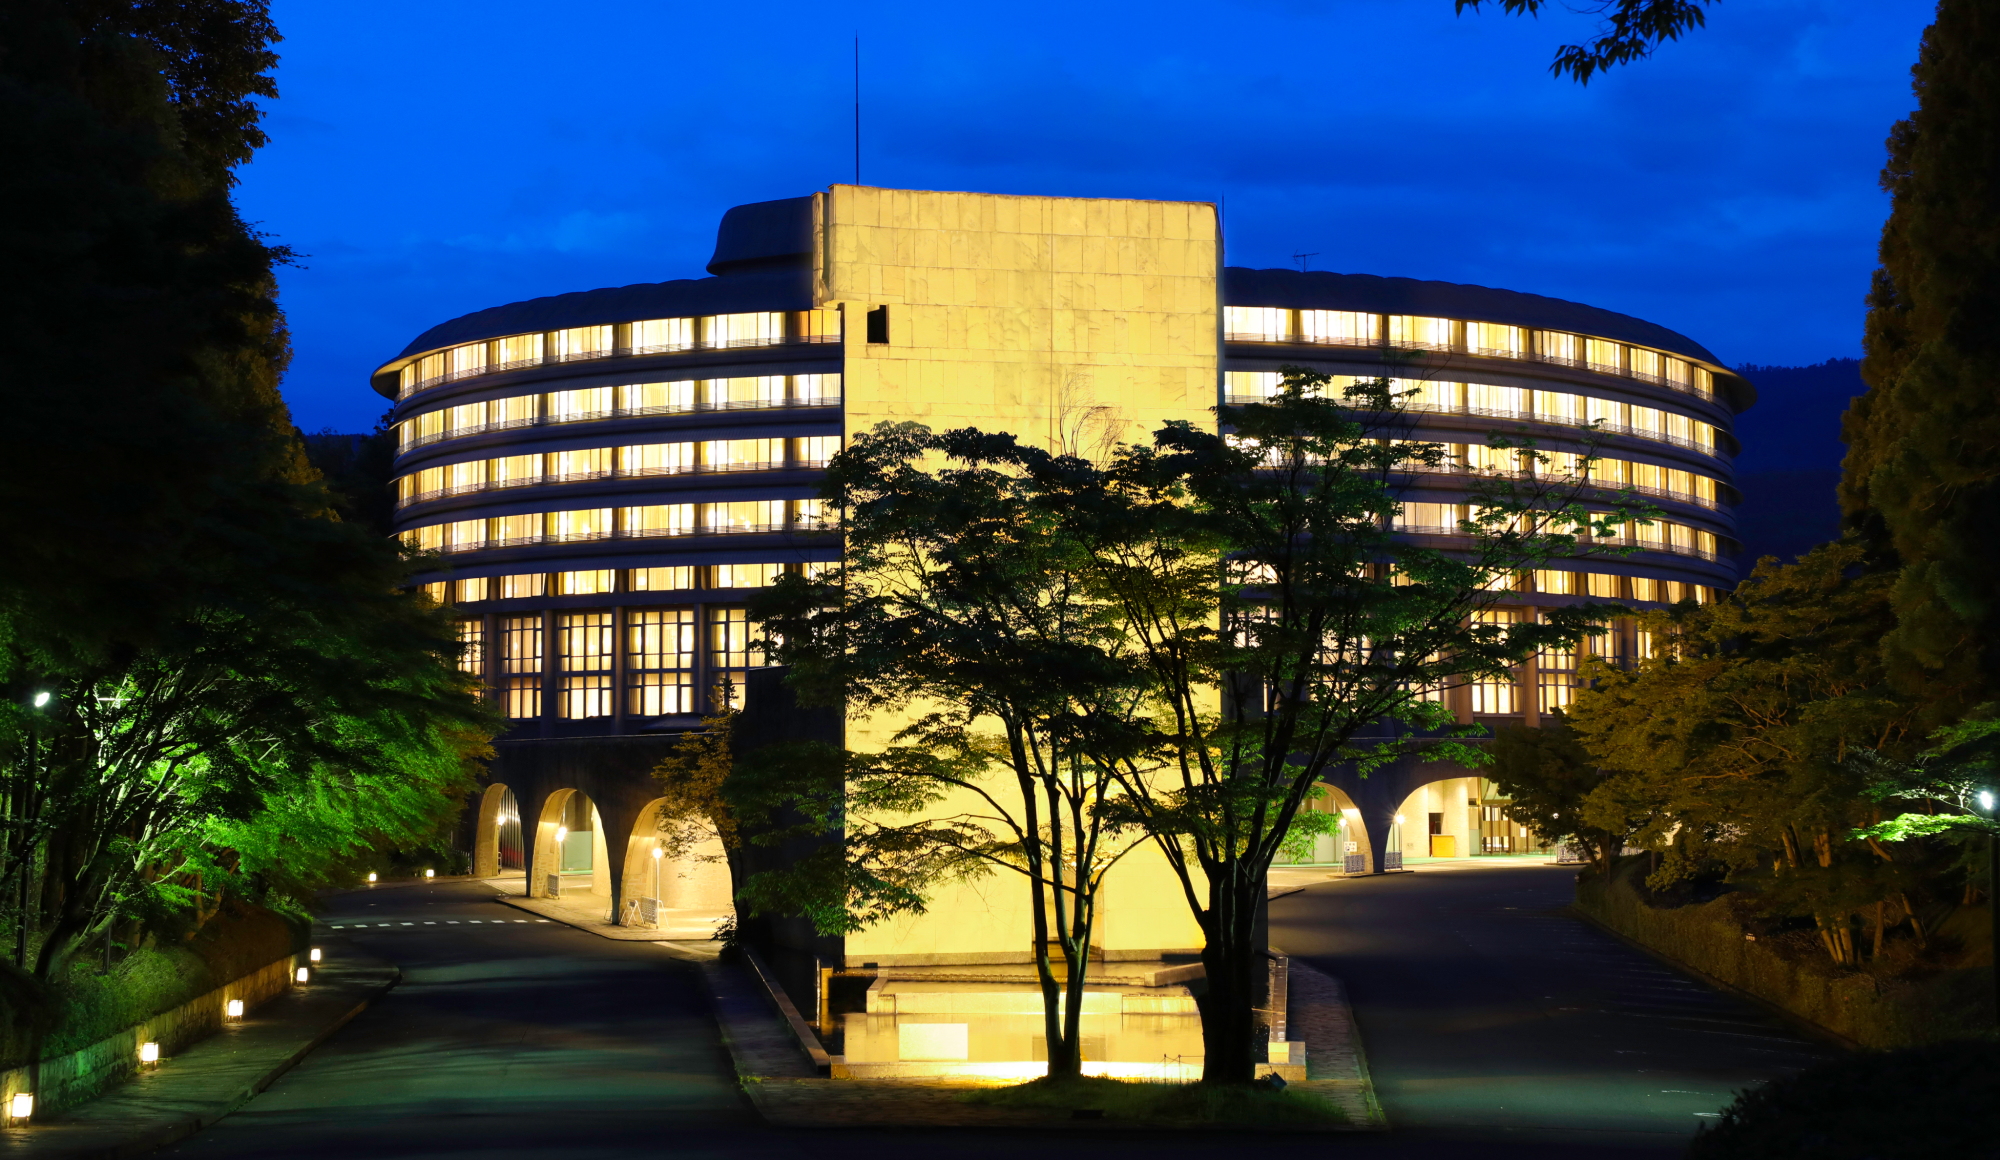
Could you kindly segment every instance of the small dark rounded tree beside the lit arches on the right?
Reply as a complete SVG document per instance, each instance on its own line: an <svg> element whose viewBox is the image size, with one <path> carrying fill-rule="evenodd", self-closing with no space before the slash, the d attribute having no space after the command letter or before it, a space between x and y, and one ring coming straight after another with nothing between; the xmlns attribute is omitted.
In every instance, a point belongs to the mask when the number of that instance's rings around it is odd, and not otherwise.
<svg viewBox="0 0 2000 1160"><path fill-rule="evenodd" d="M1488 746L1486 776L1510 798L1508 816L1548 842L1572 840L1590 850L1598 874L1610 876L1618 852L1646 830L1646 814L1608 816L1598 798L1590 820L1584 802L1604 784L1606 772L1570 732L1564 716L1550 714L1540 728L1500 726ZM1606 828L1604 822L1610 822Z"/></svg>

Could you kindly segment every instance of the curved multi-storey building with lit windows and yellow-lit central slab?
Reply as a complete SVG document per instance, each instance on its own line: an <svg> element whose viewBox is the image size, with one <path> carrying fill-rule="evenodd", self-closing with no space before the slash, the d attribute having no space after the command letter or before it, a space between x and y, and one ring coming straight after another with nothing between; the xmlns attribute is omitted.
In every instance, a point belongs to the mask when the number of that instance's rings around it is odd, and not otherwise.
<svg viewBox="0 0 2000 1160"><path fill-rule="evenodd" d="M758 696L784 700L754 678L748 590L838 560L816 500L822 468L880 420L1054 446L1078 406L1146 438L1270 394L1284 364L1390 376L1412 392L1416 438L1454 454L1452 470L1406 480L1412 536L1450 542L1470 476L1510 468L1486 444L1494 430L1528 432L1558 458L1594 440L1606 500L1632 488L1664 512L1628 532L1634 554L1524 576L1492 616L1710 600L1734 584L1732 420L1754 402L1750 384L1624 314L1480 286L1222 268L1206 204L862 186L730 210L708 272L468 314L374 374L396 400L400 536L438 552L420 580L456 608L466 664L512 722L494 782L518 794L490 796L480 832L520 816L530 892L602 860L596 888L614 914L644 894L628 852L656 830L646 772L724 678L748 690L752 718ZM1624 624L1598 648L1634 656L1646 640ZM1512 682L1452 690L1452 706L1462 720L1532 724L1568 702L1580 660L1542 654ZM822 726L850 744L868 734ZM1412 806L1424 786L1446 788ZM1526 840L1464 770L1334 790L1354 832L1320 860L1352 866L1358 850L1382 870L1402 854ZM562 804L566 792L602 816ZM1410 812L1422 826L1394 822ZM602 854L558 848L580 824L600 832ZM566 838L550 846L556 832ZM1170 918L1148 922L1128 950L1180 946ZM988 954L938 938L910 954ZM848 958L900 954L848 942Z"/></svg>

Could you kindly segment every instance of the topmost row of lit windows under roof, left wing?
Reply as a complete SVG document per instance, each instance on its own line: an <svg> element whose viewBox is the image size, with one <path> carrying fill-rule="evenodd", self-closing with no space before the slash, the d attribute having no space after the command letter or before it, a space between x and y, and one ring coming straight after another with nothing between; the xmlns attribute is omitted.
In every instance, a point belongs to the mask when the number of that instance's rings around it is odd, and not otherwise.
<svg viewBox="0 0 2000 1160"><path fill-rule="evenodd" d="M838 342L838 310L758 310L700 318L650 318L572 326L536 334L510 334L466 342L416 358L402 368L402 394L480 374L574 362L614 354L666 354L672 350L776 346L780 342Z"/></svg>

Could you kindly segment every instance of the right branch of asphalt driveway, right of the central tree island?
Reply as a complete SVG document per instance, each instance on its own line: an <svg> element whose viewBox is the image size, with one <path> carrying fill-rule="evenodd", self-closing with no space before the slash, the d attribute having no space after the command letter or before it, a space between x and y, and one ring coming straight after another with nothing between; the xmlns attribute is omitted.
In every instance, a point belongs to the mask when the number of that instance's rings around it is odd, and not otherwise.
<svg viewBox="0 0 2000 1160"><path fill-rule="evenodd" d="M1448 866L1270 904L1272 946L1346 980L1408 1144L1678 1156L1738 1088L1834 1054L1568 916L1570 868Z"/></svg>

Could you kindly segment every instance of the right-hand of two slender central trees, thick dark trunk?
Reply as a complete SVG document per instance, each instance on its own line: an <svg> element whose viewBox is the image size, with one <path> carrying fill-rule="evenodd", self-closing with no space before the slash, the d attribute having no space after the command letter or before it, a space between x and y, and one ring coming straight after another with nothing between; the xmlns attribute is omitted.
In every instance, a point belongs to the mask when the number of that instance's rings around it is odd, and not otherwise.
<svg viewBox="0 0 2000 1160"><path fill-rule="evenodd" d="M1480 764L1442 690L1574 644L1590 608L1518 622L1522 570L1606 550L1640 508L1590 482L1592 456L1492 436L1516 470L1470 472L1414 440L1408 394L1288 366L1228 434L1172 424L1108 468L1034 462L1040 502L1086 552L1150 676L1152 750L1118 758L1114 804L1150 834L1204 932L1204 1082L1246 1082L1262 1048L1266 874L1316 782L1406 756ZM1396 530L1414 472L1466 472L1446 542ZM1588 500L1588 502L1586 502ZM1228 580L1228 582L1224 582ZM1394 722L1388 740L1370 740Z"/></svg>

